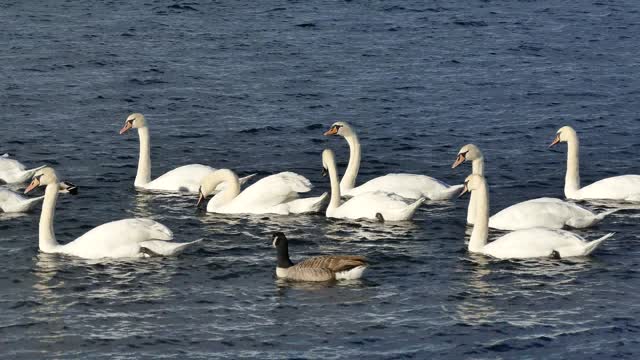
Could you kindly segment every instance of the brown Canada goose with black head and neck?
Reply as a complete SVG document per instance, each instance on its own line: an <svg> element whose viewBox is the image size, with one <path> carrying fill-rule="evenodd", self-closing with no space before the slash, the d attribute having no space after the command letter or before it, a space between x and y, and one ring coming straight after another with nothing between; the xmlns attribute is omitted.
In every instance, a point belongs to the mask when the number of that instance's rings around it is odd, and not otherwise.
<svg viewBox="0 0 640 360"><path fill-rule="evenodd" d="M314 256L297 264L289 259L289 242L282 232L273 234L273 247L278 249L276 276L296 281L353 280L362 277L367 259L355 255Z"/></svg>

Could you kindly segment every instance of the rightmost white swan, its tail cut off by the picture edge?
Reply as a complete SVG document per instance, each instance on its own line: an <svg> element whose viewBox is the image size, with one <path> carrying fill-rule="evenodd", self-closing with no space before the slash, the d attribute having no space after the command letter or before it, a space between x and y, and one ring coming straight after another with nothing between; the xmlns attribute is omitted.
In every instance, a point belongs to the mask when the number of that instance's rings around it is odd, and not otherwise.
<svg viewBox="0 0 640 360"><path fill-rule="evenodd" d="M564 178L564 196L568 199L608 199L636 201L640 198L640 175L614 176L580 187L580 143L571 126L564 126L556 133L549 147L567 143L567 173Z"/></svg>

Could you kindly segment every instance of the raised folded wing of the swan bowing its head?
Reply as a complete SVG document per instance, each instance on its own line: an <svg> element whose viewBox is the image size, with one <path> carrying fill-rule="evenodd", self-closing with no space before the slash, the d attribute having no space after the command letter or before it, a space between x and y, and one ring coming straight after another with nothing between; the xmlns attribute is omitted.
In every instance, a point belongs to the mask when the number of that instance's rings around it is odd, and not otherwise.
<svg viewBox="0 0 640 360"><path fill-rule="evenodd" d="M235 199L234 207L268 208L298 198L298 193L311 190L311 182L293 172L281 172L258 180Z"/></svg>

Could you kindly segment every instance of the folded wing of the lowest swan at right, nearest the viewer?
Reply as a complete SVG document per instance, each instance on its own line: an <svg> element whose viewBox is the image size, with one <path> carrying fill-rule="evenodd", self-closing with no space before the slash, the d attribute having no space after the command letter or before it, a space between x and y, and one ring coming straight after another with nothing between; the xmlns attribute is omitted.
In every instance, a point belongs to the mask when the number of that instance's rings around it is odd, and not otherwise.
<svg viewBox="0 0 640 360"><path fill-rule="evenodd" d="M551 256L553 251L562 257L580 256L586 242L565 230L534 228L510 232L485 245L482 253L500 259L523 259Z"/></svg>

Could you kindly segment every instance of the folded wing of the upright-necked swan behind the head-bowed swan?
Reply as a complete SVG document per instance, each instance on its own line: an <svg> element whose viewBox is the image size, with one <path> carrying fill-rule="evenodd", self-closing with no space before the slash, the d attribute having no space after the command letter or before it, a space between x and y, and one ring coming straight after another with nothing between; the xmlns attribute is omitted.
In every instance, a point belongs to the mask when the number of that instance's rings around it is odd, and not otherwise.
<svg viewBox="0 0 640 360"><path fill-rule="evenodd" d="M175 168L144 186L149 190L197 193L202 179L216 169L200 164Z"/></svg>

